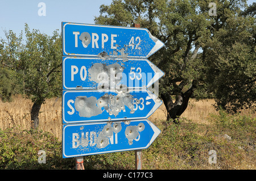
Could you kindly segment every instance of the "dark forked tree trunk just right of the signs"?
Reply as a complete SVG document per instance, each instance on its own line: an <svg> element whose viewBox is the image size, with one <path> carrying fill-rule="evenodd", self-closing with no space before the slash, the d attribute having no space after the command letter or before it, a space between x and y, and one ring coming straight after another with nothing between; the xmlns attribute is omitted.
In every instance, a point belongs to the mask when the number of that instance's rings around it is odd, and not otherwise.
<svg viewBox="0 0 256 181"><path fill-rule="evenodd" d="M175 119L187 109L188 100L189 98L191 98L195 87L196 86L192 83L190 89L185 91L185 93L181 92L181 94L176 97L175 103L172 101L170 94L161 94L161 98L163 99L164 106L166 106L167 110L167 121L169 121L169 119L172 119L176 123Z"/></svg>

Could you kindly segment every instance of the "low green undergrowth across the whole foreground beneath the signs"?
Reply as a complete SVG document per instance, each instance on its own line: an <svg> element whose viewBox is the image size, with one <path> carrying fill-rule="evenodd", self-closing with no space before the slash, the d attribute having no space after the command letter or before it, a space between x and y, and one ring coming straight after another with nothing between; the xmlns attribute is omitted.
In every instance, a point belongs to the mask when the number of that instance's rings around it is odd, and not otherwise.
<svg viewBox="0 0 256 181"><path fill-rule="evenodd" d="M157 121L162 130L142 151L143 169L256 169L256 121L250 116L220 111L210 123L179 119L178 124ZM225 134L229 137L225 137ZM46 163L38 163L38 151ZM0 169L75 169L75 158L62 158L61 142L53 134L31 129L0 129ZM216 163L210 163L210 150ZM134 151L84 157L85 169L135 169Z"/></svg>

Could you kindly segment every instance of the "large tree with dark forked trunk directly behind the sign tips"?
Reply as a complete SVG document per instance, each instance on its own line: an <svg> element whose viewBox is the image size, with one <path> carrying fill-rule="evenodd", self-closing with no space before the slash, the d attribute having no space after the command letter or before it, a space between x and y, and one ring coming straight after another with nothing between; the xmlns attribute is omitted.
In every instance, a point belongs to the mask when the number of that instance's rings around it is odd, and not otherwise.
<svg viewBox="0 0 256 181"><path fill-rule="evenodd" d="M199 12L198 1L113 1L101 5L97 24L133 26L141 24L158 37L165 47L150 57L166 75L160 79L160 96L167 120L185 111L201 77L199 49L209 36L207 12ZM172 99L175 98L175 101Z"/></svg>

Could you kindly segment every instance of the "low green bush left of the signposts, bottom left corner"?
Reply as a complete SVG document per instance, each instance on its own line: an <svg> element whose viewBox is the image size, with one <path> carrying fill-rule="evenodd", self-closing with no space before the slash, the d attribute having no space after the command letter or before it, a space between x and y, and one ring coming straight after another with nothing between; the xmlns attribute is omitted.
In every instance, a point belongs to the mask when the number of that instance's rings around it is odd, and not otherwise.
<svg viewBox="0 0 256 181"><path fill-rule="evenodd" d="M74 159L63 159L61 142L51 133L31 129L0 129L0 169L73 169ZM39 150L46 163L38 163Z"/></svg>

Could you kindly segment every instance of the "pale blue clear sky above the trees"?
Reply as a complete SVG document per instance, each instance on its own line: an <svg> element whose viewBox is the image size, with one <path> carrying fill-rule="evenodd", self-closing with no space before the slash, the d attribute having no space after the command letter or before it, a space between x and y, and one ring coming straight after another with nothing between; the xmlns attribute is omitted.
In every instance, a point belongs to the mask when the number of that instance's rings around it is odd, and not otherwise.
<svg viewBox="0 0 256 181"><path fill-rule="evenodd" d="M249 0L247 4L251 5L254 1ZM13 30L18 36L21 30L24 31L25 23L30 30L40 30L47 35L52 35L57 29L61 33L61 22L94 24L94 17L100 15L100 5L110 5L111 2L112 0L0 0L0 38L5 39L3 30Z"/></svg>

